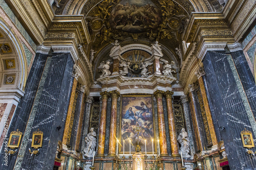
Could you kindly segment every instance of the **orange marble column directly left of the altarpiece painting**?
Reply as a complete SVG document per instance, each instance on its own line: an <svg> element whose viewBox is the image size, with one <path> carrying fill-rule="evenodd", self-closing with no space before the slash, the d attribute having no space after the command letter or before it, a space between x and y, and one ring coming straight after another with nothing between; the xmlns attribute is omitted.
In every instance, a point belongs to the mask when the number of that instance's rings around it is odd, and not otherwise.
<svg viewBox="0 0 256 170"><path fill-rule="evenodd" d="M116 119L117 119L117 98L120 93L117 90L111 91L111 119L110 119L110 140L109 140L109 154L108 156L115 156L116 149Z"/></svg>

